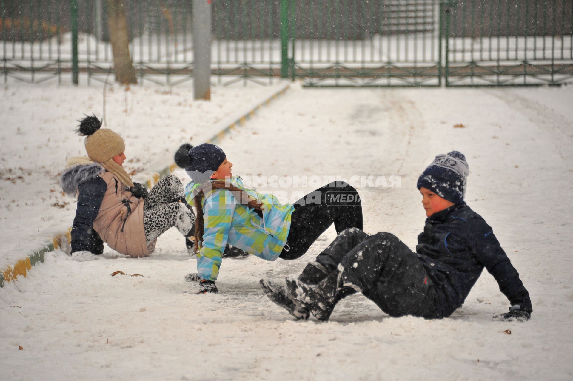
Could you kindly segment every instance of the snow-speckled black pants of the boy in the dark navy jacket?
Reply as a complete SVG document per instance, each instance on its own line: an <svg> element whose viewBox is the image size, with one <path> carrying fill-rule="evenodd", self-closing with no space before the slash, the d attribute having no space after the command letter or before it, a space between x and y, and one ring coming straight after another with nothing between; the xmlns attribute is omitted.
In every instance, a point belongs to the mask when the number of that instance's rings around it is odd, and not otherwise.
<svg viewBox="0 0 573 381"><path fill-rule="evenodd" d="M341 297L359 291L390 316L441 317L422 261L393 234L344 230L316 262L338 274Z"/></svg>

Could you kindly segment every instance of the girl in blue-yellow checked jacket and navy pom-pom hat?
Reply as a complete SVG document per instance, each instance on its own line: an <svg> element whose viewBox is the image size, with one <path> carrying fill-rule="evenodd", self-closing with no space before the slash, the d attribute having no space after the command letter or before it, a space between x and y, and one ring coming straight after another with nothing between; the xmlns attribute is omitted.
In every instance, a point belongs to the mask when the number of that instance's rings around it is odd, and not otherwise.
<svg viewBox="0 0 573 381"><path fill-rule="evenodd" d="M267 261L301 257L313 242L334 223L336 233L362 229L362 205L355 188L333 182L295 202L281 205L271 194L259 194L233 176L233 164L221 148L205 143L183 144L175 162L185 168L191 182L185 187L187 203L197 209L195 253L197 254L197 293L218 292L223 249L227 243ZM351 202L328 202L329 191L352 195ZM330 194L332 195L332 193ZM308 276L322 273L311 262ZM190 292L188 287L185 292Z"/></svg>

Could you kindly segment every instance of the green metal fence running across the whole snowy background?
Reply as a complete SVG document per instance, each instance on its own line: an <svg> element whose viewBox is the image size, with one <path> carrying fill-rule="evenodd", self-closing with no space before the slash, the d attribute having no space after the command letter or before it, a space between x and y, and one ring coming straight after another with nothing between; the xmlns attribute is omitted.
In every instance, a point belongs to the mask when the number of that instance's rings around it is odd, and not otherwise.
<svg viewBox="0 0 573 381"><path fill-rule="evenodd" d="M192 2L123 1L139 81L192 78ZM529 85L573 77L573 0L211 4L219 84L289 77L308 86ZM5 81L61 81L74 62L88 81L104 80L113 70L107 30L105 0L2 0Z"/></svg>

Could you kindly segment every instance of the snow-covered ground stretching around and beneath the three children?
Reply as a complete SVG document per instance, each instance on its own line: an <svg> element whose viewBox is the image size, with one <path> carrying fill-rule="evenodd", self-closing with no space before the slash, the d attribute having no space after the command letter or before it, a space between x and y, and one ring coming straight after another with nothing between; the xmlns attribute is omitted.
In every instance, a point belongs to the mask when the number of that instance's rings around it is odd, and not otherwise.
<svg viewBox="0 0 573 381"><path fill-rule="evenodd" d="M243 89L236 89L232 101L215 93L212 103L201 107L215 113L217 104L230 107L226 103L253 96ZM6 93L12 91L10 98ZM146 103L122 115L123 91L116 89L115 102L108 101L108 123L131 126L125 132L136 142L128 152L136 160L131 168L151 166L150 156L188 139L200 116L183 113L189 105L178 105L190 94L132 91L135 105ZM100 107L100 99L89 88L10 86L0 106L7 126L1 132L3 167L55 178L64 156L83 150L71 132L73 120L89 104ZM410 248L425 221L415 188L418 175L434 155L460 150L471 170L466 201L493 226L531 294L534 312L527 323L491 319L509 304L487 273L448 319L394 319L354 295L337 306L328 323L293 321L264 296L258 280L299 272L335 237L332 228L299 260L225 260L218 294L182 294L183 276L194 271L195 260L173 230L159 238L150 258L117 258L107 249L96 261L75 262L61 252L49 253L28 278L1 289L2 378L570 380L571 104L569 87L294 87L221 142L233 173L245 178L401 176L401 187L361 189L370 193L364 229L390 231ZM45 135L36 132L42 126ZM50 181L56 187L56 180ZM15 195L8 184L2 182L2 192ZM49 189L32 180L18 180L14 187L20 191L18 202L35 202L30 210L50 218L48 225L71 222L71 199L61 200L70 203L61 210L44 207L41 194L50 195ZM2 205L3 226L11 228L21 206ZM111 277L115 270L127 275ZM508 329L511 335L504 333Z"/></svg>

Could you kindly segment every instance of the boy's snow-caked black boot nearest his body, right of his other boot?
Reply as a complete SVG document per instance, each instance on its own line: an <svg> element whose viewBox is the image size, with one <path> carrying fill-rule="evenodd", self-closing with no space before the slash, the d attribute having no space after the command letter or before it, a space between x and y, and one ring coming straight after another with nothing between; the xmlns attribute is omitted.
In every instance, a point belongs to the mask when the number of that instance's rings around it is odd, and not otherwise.
<svg viewBox="0 0 573 381"><path fill-rule="evenodd" d="M342 298L337 287L337 272L332 272L317 285L307 285L298 279L286 278L286 294L308 309L317 320L326 321Z"/></svg>

